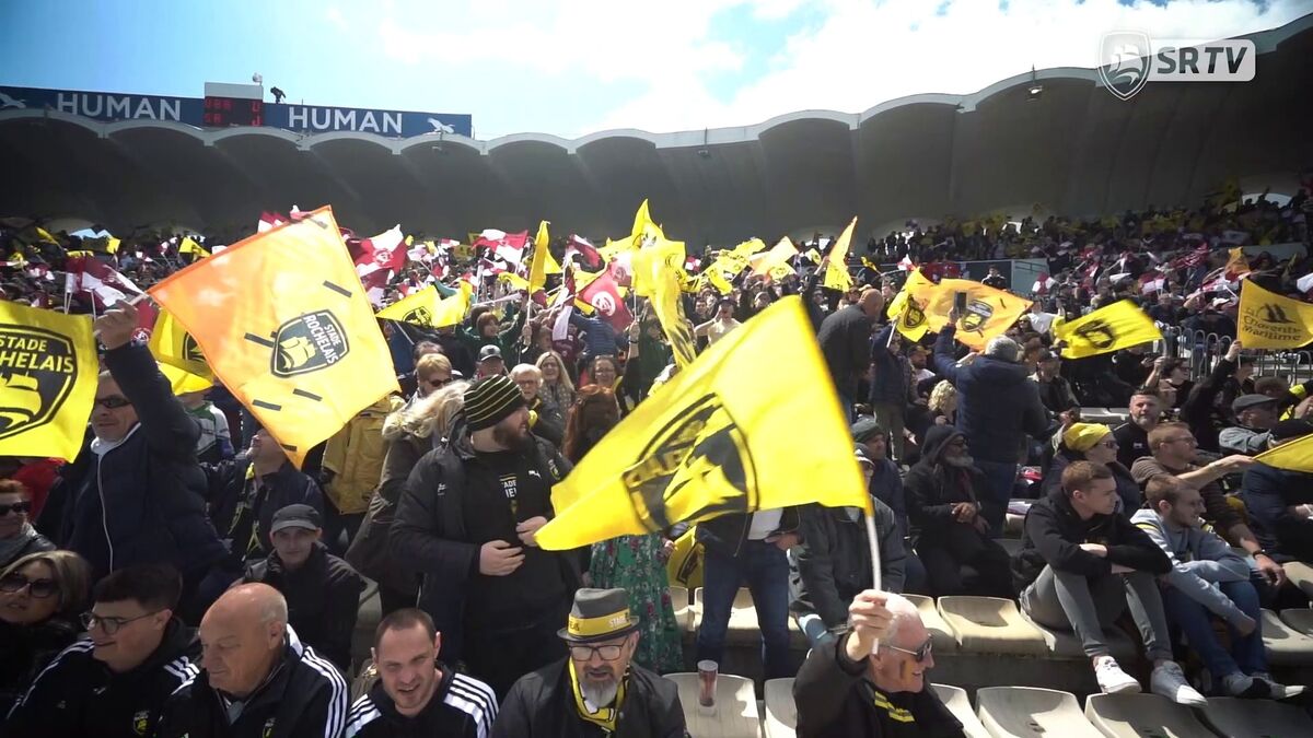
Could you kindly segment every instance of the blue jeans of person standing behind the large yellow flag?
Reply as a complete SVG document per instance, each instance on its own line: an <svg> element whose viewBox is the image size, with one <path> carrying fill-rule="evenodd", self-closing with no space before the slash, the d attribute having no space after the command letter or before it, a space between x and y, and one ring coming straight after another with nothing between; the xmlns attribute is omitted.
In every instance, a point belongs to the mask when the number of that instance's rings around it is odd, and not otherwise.
<svg viewBox="0 0 1313 738"><path fill-rule="evenodd" d="M762 630L762 663L767 679L792 676L789 670L789 562L775 544L744 541L737 557L706 546L702 561L702 624L697 661L717 663L725 654L734 595L747 582Z"/></svg>

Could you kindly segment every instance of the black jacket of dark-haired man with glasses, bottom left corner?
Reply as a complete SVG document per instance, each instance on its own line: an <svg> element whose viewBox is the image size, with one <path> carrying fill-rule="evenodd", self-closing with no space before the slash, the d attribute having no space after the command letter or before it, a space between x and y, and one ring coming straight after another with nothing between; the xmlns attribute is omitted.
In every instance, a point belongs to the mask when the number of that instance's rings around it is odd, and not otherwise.
<svg viewBox="0 0 1313 738"><path fill-rule="evenodd" d="M0 735L152 735L169 695L200 671L196 632L177 619L165 626L155 653L131 671L110 671L93 651L84 638L55 657L9 712Z"/></svg>

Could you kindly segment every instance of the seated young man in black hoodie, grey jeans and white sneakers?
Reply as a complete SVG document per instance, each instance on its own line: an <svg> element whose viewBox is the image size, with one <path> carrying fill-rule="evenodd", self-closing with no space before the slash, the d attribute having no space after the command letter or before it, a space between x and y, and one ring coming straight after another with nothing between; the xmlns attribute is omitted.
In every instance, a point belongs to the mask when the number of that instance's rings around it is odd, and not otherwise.
<svg viewBox="0 0 1313 738"><path fill-rule="evenodd" d="M1103 638L1103 629L1129 607L1145 654L1154 662L1153 692L1203 706L1203 695L1171 661L1155 579L1171 571L1171 561L1116 506L1117 486L1107 466L1073 461L1062 470L1062 490L1032 504L1025 515L1022 552L1012 565L1022 609L1040 625L1074 630L1099 688L1115 695L1140 692L1140 683L1121 670Z"/></svg>

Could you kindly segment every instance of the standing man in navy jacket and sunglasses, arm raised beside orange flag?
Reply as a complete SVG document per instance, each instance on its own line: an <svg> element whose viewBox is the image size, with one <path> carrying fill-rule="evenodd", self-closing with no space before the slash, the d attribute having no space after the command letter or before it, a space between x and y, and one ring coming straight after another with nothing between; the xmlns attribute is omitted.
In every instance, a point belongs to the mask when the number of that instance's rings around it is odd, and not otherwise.
<svg viewBox="0 0 1313 738"><path fill-rule="evenodd" d="M81 554L97 579L137 563L172 565L183 574L181 613L190 619L236 576L217 566L226 552L205 515L201 431L150 349L133 340L137 307L106 310L96 330L109 370L96 387L92 437L60 470L41 528Z"/></svg>

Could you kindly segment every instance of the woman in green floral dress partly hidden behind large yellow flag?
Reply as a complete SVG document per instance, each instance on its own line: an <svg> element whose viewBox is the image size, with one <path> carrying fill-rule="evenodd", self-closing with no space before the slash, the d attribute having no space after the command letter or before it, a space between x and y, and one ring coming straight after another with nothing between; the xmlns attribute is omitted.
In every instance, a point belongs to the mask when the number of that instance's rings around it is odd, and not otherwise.
<svg viewBox="0 0 1313 738"><path fill-rule="evenodd" d="M618 422L616 397L609 389L582 387L566 419L562 443L566 458L578 464ZM641 633L634 659L658 674L684 667L679 622L666 579L667 544L660 533L620 536L593 544L588 566L593 587L624 587L629 592L629 611L638 616Z"/></svg>

